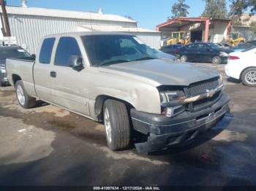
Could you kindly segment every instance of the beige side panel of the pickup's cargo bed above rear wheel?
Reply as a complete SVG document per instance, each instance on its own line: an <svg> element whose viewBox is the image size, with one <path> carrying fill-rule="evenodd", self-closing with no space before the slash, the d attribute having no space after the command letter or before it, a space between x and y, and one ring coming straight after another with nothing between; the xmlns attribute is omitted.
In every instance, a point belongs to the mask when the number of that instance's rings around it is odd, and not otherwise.
<svg viewBox="0 0 256 191"><path fill-rule="evenodd" d="M7 58L6 69L7 78L12 86L15 86L15 78L20 78L29 95L36 96L34 90L34 57L27 58Z"/></svg>

